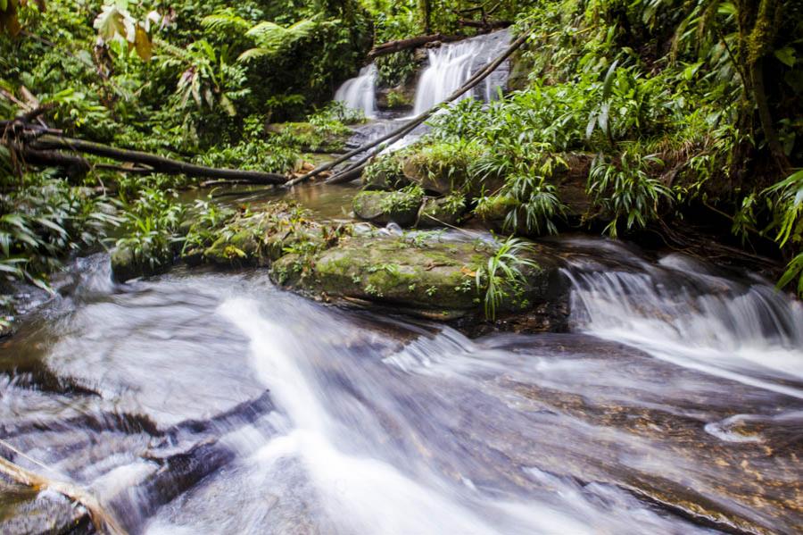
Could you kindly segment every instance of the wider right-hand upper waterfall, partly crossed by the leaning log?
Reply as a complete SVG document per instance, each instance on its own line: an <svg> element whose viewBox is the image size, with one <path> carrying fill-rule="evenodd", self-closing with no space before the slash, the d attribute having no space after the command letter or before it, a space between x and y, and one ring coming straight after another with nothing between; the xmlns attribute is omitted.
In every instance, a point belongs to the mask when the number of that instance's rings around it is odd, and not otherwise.
<svg viewBox="0 0 803 535"><path fill-rule="evenodd" d="M429 64L421 74L416 88L415 114L426 112L435 104L446 100L446 97L465 84L476 71L501 54L508 46L509 37L507 30L501 30L430 49ZM506 78L507 69L500 66L491 76L460 98L481 96L488 102Z"/></svg>

